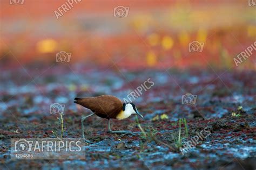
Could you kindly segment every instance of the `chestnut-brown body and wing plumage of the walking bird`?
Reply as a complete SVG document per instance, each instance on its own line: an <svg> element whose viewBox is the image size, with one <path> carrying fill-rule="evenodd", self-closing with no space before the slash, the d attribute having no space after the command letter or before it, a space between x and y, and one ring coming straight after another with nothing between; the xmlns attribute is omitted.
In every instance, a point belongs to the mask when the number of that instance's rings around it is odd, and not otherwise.
<svg viewBox="0 0 256 170"><path fill-rule="evenodd" d="M102 95L98 97L75 98L75 103L92 110L99 117L116 118L116 115L123 108L122 101L111 95Z"/></svg>

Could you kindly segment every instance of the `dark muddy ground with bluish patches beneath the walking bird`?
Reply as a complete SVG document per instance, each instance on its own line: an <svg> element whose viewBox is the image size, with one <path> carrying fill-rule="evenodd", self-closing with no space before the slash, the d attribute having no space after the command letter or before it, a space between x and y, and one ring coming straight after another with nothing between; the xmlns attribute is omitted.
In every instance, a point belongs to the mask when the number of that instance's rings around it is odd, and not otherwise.
<svg viewBox="0 0 256 170"><path fill-rule="evenodd" d="M74 97L111 94L123 99L147 79L154 86L133 100L145 119L146 136L111 134L107 120L85 121L85 160L11 160L10 138L54 138L60 134L57 115L49 105L65 104L65 138L80 138L82 115L90 110L73 103ZM120 70L82 65L1 68L0 169L255 169L256 74L253 71L212 69ZM181 96L197 96L195 105ZM181 146L205 128L210 134L184 155ZM113 120L112 130L141 131L133 116Z"/></svg>

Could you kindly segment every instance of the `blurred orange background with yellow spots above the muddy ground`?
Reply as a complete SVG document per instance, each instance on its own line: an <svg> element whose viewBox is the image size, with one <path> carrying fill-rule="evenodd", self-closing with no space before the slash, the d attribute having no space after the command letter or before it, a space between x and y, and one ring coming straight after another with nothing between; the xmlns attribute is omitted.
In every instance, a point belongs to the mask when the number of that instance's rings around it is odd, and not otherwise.
<svg viewBox="0 0 256 170"><path fill-rule="evenodd" d="M66 2L1 1L0 62L55 62L65 51L71 63L255 69L255 51L238 67L233 61L256 40L256 7L248 1L82 0L57 19ZM127 17L114 17L117 6L129 8ZM203 52L189 52L192 41L204 42Z"/></svg>

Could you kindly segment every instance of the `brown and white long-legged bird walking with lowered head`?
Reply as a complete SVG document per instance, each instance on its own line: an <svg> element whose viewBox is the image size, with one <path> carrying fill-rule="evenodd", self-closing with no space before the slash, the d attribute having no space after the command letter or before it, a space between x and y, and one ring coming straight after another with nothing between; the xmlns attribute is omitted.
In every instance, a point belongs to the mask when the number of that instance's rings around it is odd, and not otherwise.
<svg viewBox="0 0 256 170"><path fill-rule="evenodd" d="M83 107L90 109L93 113L81 118L82 124L82 137L87 143L92 143L90 140L85 139L84 136L84 120L97 115L101 118L108 120L108 131L110 133L127 133L127 134L138 134L139 132L131 131L113 131L110 128L110 119L123 120L136 114L144 118L133 103L123 103L119 98L112 95L102 95L97 97L86 97L74 99L74 103L82 105Z"/></svg>

